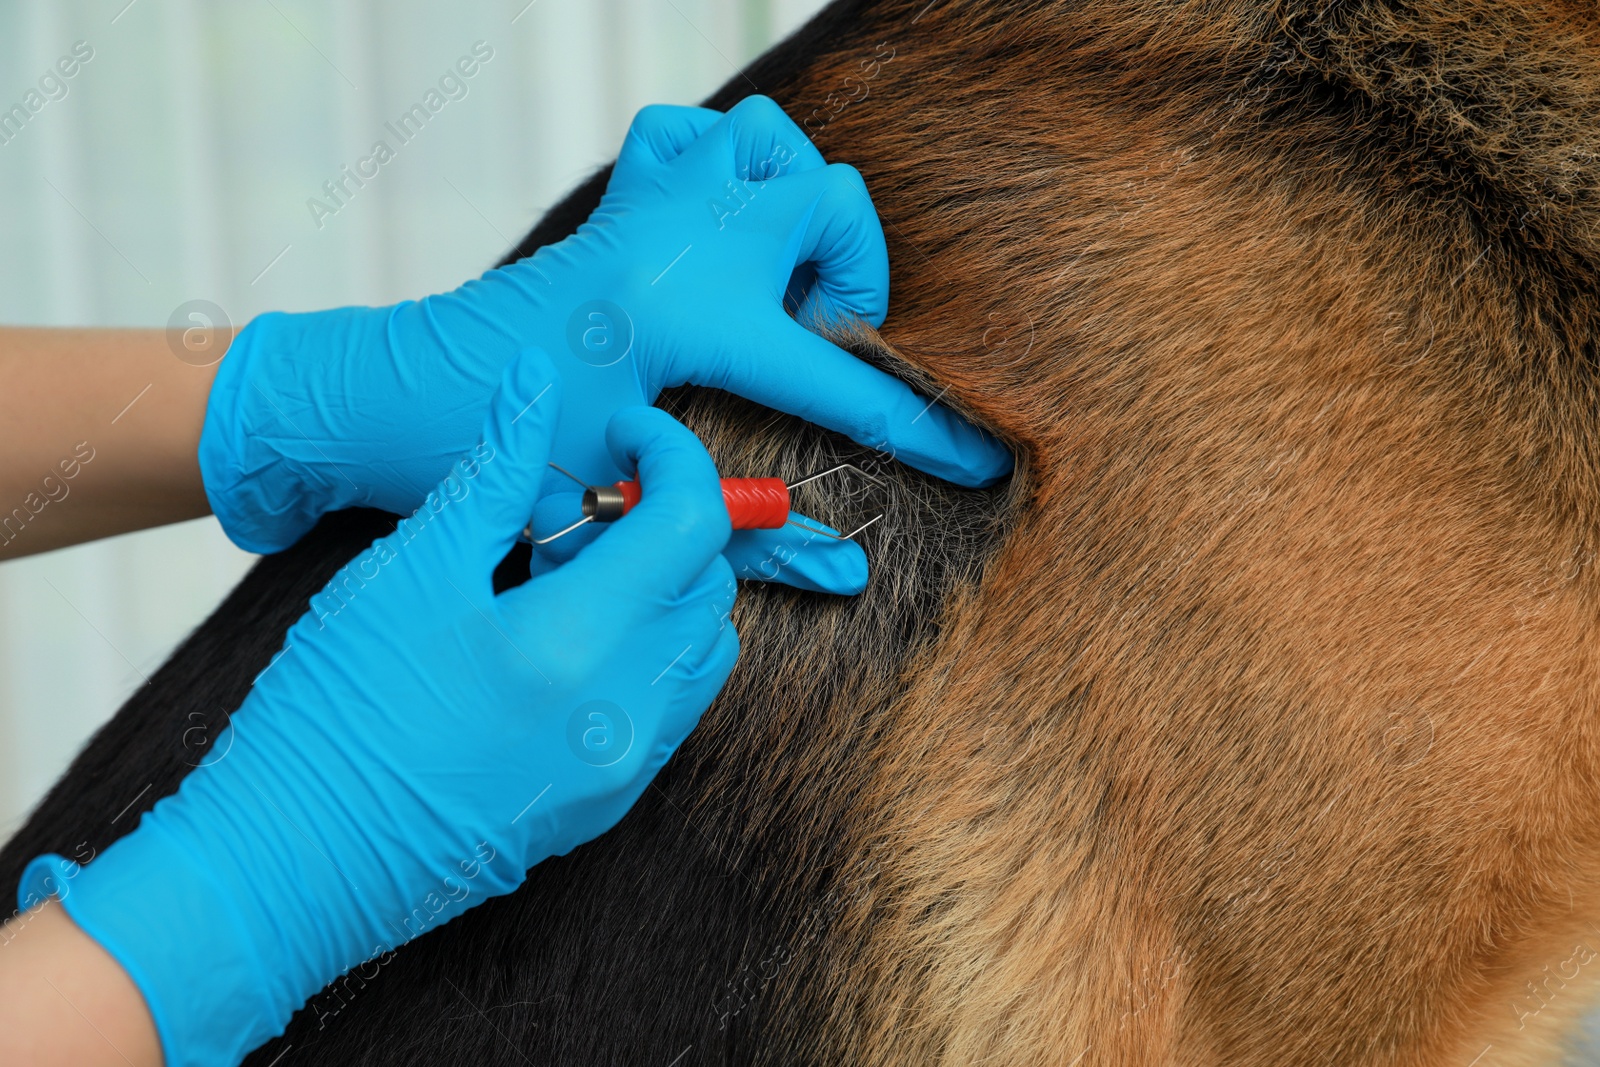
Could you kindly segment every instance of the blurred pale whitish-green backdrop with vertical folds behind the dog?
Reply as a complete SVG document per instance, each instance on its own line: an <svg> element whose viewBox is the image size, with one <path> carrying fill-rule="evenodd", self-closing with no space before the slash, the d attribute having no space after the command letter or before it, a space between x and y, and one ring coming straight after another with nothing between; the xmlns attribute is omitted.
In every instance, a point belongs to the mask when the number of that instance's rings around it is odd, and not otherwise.
<svg viewBox="0 0 1600 1067"><path fill-rule="evenodd" d="M234 323L480 274L608 162L824 0L6 0L0 110L93 59L0 144L0 323ZM493 58L318 229L307 198L475 42ZM106 446L115 442L107 440ZM3 558L3 557L0 557ZM251 565L214 520L0 563L0 840Z"/></svg>

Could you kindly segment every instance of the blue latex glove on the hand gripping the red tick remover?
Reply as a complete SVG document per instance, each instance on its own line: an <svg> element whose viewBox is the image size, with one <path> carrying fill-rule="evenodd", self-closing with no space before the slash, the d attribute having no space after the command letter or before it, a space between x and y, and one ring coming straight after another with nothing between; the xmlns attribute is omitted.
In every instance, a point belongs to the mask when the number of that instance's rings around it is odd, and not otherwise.
<svg viewBox="0 0 1600 1067"><path fill-rule="evenodd" d="M605 832L726 680L728 512L662 411L608 424L638 507L493 593L560 397L515 362L483 443L318 593L208 765L86 867L24 875L128 971L168 1067L237 1064L346 969Z"/></svg>

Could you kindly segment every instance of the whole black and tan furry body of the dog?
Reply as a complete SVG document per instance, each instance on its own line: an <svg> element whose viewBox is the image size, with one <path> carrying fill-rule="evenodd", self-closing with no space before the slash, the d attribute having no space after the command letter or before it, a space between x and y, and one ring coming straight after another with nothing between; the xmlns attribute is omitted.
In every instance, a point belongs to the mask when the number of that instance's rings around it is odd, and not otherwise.
<svg viewBox="0 0 1600 1067"><path fill-rule="evenodd" d="M885 219L890 318L842 339L1016 478L880 464L869 590L746 585L730 688L618 830L251 1062L1555 1062L1600 974L1597 34L886 0L757 61L714 106L773 94ZM726 474L869 462L669 406ZM6 877L174 789L186 717L382 528L264 560Z"/></svg>

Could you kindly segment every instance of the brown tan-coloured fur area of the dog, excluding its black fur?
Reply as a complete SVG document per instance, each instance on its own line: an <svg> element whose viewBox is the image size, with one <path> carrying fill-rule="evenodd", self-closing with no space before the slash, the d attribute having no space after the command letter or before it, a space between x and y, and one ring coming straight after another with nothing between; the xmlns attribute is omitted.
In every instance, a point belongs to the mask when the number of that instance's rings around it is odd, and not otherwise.
<svg viewBox="0 0 1600 1067"><path fill-rule="evenodd" d="M854 757L821 1061L1549 1062L1600 974L1595 30L918 0L760 86L874 190L883 341L1026 459Z"/></svg>

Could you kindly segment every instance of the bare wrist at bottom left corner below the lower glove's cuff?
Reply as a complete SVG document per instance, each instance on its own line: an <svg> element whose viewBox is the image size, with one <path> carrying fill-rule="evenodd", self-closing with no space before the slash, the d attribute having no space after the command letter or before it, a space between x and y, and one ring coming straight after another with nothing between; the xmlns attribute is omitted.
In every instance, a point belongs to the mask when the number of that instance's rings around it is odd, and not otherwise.
<svg viewBox="0 0 1600 1067"><path fill-rule="evenodd" d="M54 901L0 926L0 1064L162 1067L139 989Z"/></svg>

